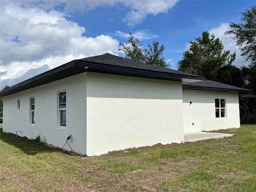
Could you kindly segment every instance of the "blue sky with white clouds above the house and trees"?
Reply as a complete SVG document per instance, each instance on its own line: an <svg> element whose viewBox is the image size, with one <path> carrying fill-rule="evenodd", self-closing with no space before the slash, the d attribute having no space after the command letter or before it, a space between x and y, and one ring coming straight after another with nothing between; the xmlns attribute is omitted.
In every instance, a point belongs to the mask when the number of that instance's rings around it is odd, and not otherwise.
<svg viewBox="0 0 256 192"><path fill-rule="evenodd" d="M247 65L230 36L229 23L256 1L0 1L0 90L74 59L124 56L119 42L129 32L146 48L164 44L164 58L176 70L188 42L209 31L225 50L236 51L236 66Z"/></svg>

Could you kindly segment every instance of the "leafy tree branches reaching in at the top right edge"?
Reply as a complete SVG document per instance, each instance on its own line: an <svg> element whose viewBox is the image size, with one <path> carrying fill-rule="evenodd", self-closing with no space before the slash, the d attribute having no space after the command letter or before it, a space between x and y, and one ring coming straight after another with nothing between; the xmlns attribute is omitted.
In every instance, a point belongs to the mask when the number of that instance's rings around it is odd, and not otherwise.
<svg viewBox="0 0 256 192"><path fill-rule="evenodd" d="M236 46L241 50L242 56L256 64L256 5L250 7L251 10L240 12L244 23L230 23L229 30L225 34L232 34L236 40Z"/></svg>

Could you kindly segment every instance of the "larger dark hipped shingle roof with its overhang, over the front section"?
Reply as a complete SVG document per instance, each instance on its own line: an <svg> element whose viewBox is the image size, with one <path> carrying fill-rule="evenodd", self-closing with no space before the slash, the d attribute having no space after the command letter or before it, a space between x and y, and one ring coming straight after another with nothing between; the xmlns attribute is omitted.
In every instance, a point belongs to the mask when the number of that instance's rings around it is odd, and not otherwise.
<svg viewBox="0 0 256 192"><path fill-rule="evenodd" d="M8 89L2 90L0 95L7 96L83 72L116 74L180 82L197 82L204 80L204 77L202 76L166 69L159 66L153 66L142 62L136 62L106 53L99 56L73 60L19 84L11 86Z"/></svg>

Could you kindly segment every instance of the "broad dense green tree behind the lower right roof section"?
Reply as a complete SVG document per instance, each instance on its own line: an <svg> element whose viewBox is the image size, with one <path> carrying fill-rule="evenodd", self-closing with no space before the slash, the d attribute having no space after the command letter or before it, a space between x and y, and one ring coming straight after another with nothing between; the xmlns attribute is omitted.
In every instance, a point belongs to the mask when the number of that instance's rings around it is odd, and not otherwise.
<svg viewBox="0 0 256 192"><path fill-rule="evenodd" d="M190 48L184 52L183 59L177 64L178 70L200 76L208 80L220 82L217 74L220 68L232 65L236 53L225 51L219 38L207 31L202 32L202 37L190 41Z"/></svg>

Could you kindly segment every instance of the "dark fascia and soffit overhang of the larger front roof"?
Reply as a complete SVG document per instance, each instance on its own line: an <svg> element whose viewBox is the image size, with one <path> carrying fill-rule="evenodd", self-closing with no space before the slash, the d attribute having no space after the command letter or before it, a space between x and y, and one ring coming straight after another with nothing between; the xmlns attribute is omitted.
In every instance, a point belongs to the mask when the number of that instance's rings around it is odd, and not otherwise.
<svg viewBox="0 0 256 192"><path fill-rule="evenodd" d="M152 78L160 80L172 80L180 81L184 83L198 82L205 80L201 76L191 76L171 74L167 72L158 72L153 70L143 70L138 68L128 68L121 66L114 66L108 64L99 64L94 62L86 62L82 60L73 60L57 68L39 74L33 78L25 80L19 84L11 86L10 88L4 89L0 92L0 96L8 96L23 90L34 88L43 84L54 82L63 78L74 76L83 72L96 72L105 74L115 74L123 76L133 76L142 78Z"/></svg>

